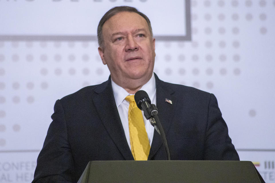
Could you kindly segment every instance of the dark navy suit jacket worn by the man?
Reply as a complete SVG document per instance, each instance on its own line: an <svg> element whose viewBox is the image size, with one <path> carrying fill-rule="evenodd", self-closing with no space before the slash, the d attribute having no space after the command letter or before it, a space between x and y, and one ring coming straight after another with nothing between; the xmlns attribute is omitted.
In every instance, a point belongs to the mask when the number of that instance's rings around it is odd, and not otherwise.
<svg viewBox="0 0 275 183"><path fill-rule="evenodd" d="M239 160L213 94L155 77L156 105L171 160ZM57 100L52 120L34 182L77 182L90 160L134 160L110 78ZM156 131L148 160L166 160Z"/></svg>

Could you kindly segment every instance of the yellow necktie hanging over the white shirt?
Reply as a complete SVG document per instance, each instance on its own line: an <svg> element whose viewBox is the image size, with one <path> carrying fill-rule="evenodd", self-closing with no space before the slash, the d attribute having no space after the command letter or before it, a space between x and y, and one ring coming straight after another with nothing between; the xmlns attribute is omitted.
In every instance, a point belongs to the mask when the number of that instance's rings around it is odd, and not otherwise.
<svg viewBox="0 0 275 183"><path fill-rule="evenodd" d="M128 120L129 120L129 133L131 152L135 160L147 160L150 144L145 129L142 112L137 108L134 95L129 95L125 98L129 105Z"/></svg>

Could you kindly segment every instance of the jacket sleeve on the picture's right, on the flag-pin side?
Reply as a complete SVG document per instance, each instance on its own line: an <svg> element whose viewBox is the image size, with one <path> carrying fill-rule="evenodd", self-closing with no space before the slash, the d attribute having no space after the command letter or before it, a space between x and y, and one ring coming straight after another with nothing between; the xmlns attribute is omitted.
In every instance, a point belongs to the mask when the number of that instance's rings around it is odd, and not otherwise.
<svg viewBox="0 0 275 183"><path fill-rule="evenodd" d="M205 139L205 160L239 160L239 155L228 135L216 97L211 94L208 107Z"/></svg>

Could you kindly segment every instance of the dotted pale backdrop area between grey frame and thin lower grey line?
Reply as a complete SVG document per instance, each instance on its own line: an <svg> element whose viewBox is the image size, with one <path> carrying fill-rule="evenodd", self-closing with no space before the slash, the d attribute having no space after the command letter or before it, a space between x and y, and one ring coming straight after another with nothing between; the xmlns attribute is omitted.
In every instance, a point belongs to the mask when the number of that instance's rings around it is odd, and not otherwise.
<svg viewBox="0 0 275 183"><path fill-rule="evenodd" d="M193 0L192 41L156 41L154 71L160 79L214 93L237 148L253 146L237 141L239 121L260 129L257 120L266 119L262 109L270 93L263 100L252 96L274 78L274 51L268 51L274 50L274 12L275 1ZM95 41L0 41L1 149L39 149L55 100L108 79L97 47ZM266 75L255 78L262 69ZM271 138L273 132L265 134ZM246 133L243 141L251 141Z"/></svg>

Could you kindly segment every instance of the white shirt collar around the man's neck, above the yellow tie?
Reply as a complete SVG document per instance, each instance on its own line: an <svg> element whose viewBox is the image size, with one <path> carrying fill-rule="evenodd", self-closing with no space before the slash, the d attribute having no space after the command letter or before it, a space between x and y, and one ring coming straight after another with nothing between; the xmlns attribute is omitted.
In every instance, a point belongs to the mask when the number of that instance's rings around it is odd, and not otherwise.
<svg viewBox="0 0 275 183"><path fill-rule="evenodd" d="M118 107L121 104L121 102L123 102L125 97L132 94L129 94L124 88L117 85L112 78L111 83L113 88L113 94L115 97L115 104ZM154 97L154 94L156 93L156 79L154 73L152 74L151 79L146 84L144 84L140 90L144 90L145 92L147 92L148 96L151 99Z"/></svg>

